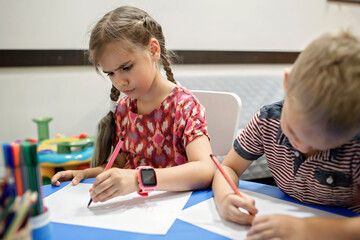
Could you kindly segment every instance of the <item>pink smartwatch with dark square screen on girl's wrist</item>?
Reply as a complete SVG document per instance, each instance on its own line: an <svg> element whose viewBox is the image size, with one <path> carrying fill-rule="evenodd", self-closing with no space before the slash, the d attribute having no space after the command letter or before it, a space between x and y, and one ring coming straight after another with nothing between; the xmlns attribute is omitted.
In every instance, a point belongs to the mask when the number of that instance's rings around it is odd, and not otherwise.
<svg viewBox="0 0 360 240"><path fill-rule="evenodd" d="M141 189L138 193L147 197L149 192L154 191L157 186L156 172L150 166L140 166L136 170L138 171L138 182Z"/></svg>

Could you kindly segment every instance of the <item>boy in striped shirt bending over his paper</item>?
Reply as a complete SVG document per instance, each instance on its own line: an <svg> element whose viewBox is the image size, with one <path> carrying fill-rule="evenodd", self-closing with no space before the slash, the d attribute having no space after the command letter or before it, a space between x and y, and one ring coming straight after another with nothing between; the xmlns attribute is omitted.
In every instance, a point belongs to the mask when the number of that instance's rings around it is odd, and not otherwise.
<svg viewBox="0 0 360 240"><path fill-rule="evenodd" d="M284 89L285 100L262 107L235 140L225 170L238 183L265 154L277 186L291 197L360 213L359 38L341 32L313 41L285 74ZM219 171L213 191L224 219L252 224L248 240L360 239L360 217L256 217L254 200L235 195Z"/></svg>

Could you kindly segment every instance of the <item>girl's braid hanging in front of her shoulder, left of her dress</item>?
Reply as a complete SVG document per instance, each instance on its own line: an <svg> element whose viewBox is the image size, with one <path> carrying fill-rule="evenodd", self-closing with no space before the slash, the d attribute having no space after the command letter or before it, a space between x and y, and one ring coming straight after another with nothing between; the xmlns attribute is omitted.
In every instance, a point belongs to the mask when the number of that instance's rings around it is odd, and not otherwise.
<svg viewBox="0 0 360 240"><path fill-rule="evenodd" d="M120 91L114 85L111 87L110 98L117 101L120 97ZM104 164L111 153L111 148L116 137L116 125L114 113L109 111L103 117L98 125L98 135L96 137L94 156L91 160L91 167L97 167Z"/></svg>

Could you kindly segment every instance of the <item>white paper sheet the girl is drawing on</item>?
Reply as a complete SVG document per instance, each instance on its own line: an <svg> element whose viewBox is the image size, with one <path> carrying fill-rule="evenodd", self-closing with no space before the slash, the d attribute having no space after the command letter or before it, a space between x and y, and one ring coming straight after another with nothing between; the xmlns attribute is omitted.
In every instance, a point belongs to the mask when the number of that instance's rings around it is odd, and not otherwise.
<svg viewBox="0 0 360 240"><path fill-rule="evenodd" d="M92 184L68 184L44 199L53 222L88 227L166 234L179 215L191 192L155 191L149 197L137 193L116 197L104 203L92 203L89 188Z"/></svg>

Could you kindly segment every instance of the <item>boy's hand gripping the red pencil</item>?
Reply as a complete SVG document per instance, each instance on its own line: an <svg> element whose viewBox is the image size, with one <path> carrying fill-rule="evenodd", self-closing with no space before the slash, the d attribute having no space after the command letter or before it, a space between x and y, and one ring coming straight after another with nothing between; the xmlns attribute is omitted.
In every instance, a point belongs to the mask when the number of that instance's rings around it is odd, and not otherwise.
<svg viewBox="0 0 360 240"><path fill-rule="evenodd" d="M216 202L216 206L223 219L238 224L250 225L258 210L255 208L254 199L245 193L241 193L241 195L243 198L233 193L228 194L222 201ZM248 212L245 212L245 210Z"/></svg>

